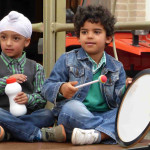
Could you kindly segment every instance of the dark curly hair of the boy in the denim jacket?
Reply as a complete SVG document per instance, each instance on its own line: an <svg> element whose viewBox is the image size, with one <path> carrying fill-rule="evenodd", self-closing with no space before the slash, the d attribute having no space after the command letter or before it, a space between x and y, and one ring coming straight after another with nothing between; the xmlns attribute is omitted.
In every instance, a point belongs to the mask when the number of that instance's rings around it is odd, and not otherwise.
<svg viewBox="0 0 150 150"><path fill-rule="evenodd" d="M106 31L106 36L114 34L114 24L116 23L114 16L102 5L79 6L73 21L77 37L80 37L80 29L86 21L100 23Z"/></svg>

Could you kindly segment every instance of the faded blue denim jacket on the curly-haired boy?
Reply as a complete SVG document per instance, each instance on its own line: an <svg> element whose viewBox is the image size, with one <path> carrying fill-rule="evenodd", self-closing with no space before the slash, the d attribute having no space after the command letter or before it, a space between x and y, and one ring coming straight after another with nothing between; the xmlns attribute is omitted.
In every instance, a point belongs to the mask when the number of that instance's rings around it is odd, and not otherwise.
<svg viewBox="0 0 150 150"><path fill-rule="evenodd" d="M126 74L121 62L117 61L106 52L106 65L102 68L101 74L107 76L107 82L100 84L103 97L110 109L120 104L120 97L123 94ZM63 54L54 65L54 68L45 81L42 88L42 95L54 103L54 112L58 115L61 107L69 100L83 101L89 91L90 85L80 88L71 99L59 96L60 86L69 81L78 81L83 84L92 81L92 63L89 61L83 48L75 49Z"/></svg>

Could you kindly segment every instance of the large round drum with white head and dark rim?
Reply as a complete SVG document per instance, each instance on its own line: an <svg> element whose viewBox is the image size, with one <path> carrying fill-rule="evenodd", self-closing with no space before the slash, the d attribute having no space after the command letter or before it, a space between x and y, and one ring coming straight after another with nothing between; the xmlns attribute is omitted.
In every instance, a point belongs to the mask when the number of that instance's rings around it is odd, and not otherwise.
<svg viewBox="0 0 150 150"><path fill-rule="evenodd" d="M123 147L135 145L150 130L150 69L139 72L125 92L117 112L116 130Z"/></svg>

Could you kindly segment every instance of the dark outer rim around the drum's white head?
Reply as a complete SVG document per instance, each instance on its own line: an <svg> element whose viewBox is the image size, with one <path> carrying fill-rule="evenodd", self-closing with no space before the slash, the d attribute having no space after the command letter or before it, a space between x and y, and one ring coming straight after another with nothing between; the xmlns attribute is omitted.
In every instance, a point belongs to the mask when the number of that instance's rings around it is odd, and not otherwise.
<svg viewBox="0 0 150 150"><path fill-rule="evenodd" d="M133 78L133 82L132 84L137 80L139 79L140 77L146 75L146 74L150 74L150 69L145 69L141 72L139 72L134 78ZM129 85L127 87L127 90L126 92L123 94L122 98L121 98L121 103L119 105L119 108L118 108L118 111L117 111L117 116L116 116L116 126L115 126L115 130L116 130L116 139L117 139L117 142L119 143L119 145L121 145L122 147L130 147L130 146L133 146L135 144L137 144L138 142L140 142L144 137L145 135L148 133L148 131L150 131L150 122L148 123L148 125L146 126L146 128L144 129L144 131L137 137L135 138L134 140L130 141L130 142L124 142L123 140L120 139L119 137L119 134L118 134L118 119L119 119L119 113L120 113L120 110L122 108L122 105L123 105L123 102L124 102L124 99L128 93L128 91L130 90L131 88L131 85Z"/></svg>

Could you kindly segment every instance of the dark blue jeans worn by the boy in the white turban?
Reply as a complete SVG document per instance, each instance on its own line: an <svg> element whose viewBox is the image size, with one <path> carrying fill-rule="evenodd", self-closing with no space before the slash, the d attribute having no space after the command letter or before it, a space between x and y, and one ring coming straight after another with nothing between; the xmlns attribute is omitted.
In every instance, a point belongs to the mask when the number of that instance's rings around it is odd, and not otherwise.
<svg viewBox="0 0 150 150"><path fill-rule="evenodd" d="M42 127L54 124L54 116L48 109L40 109L31 114L15 117L0 108L0 126L15 139L33 142Z"/></svg>

